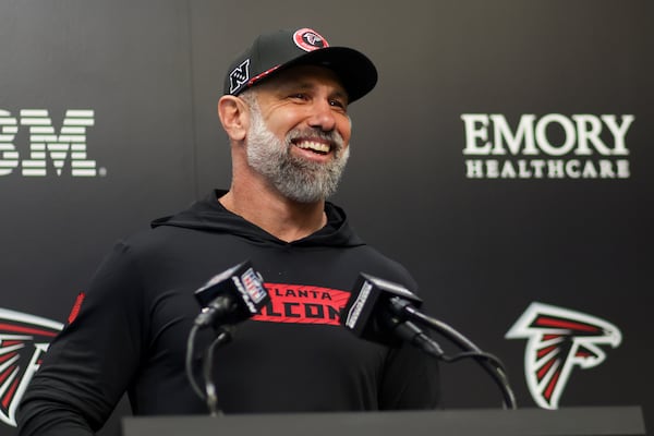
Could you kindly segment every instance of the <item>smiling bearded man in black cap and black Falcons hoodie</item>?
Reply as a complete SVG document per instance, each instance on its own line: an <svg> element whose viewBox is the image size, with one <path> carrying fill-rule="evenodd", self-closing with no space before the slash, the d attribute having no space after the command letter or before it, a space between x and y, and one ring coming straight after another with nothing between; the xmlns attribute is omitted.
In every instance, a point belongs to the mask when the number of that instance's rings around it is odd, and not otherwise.
<svg viewBox="0 0 654 436"><path fill-rule="evenodd" d="M326 202L349 155L348 105L376 80L364 55L312 29L258 37L229 69L218 102L229 191L117 244L24 395L21 434L93 434L125 391L134 414L207 413L184 371L199 312L193 293L246 259L271 301L216 352L225 413L433 408L433 361L361 340L338 319L361 271L415 289ZM195 377L213 339L204 334Z"/></svg>

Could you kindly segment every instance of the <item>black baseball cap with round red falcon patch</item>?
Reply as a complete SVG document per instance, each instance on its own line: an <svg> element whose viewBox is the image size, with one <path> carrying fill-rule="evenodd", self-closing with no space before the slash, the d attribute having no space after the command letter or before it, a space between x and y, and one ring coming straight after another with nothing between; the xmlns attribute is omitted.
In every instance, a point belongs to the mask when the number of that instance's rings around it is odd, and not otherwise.
<svg viewBox="0 0 654 436"><path fill-rule="evenodd" d="M332 70L346 88L349 102L370 93L377 83L377 69L365 55L348 47L330 47L320 34L304 27L259 35L229 66L225 94L239 95L294 65Z"/></svg>

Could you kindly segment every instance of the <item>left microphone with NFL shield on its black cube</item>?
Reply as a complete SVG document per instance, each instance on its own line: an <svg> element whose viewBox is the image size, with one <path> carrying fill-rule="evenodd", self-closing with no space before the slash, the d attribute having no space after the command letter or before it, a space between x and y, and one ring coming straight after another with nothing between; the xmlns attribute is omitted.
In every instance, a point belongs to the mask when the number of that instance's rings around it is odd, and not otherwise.
<svg viewBox="0 0 654 436"><path fill-rule="evenodd" d="M270 299L250 261L211 277L194 295L202 307L195 325L214 328L256 315Z"/></svg>

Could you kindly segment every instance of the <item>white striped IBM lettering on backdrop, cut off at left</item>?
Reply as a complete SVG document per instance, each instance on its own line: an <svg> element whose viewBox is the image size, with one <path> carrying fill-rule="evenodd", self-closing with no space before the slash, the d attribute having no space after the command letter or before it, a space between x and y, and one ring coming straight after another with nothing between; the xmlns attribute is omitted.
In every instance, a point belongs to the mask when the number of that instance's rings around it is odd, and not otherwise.
<svg viewBox="0 0 654 436"><path fill-rule="evenodd" d="M94 116L93 110L66 110L57 133L47 109L22 109L20 120L0 109L0 175L20 167L24 177L45 177L48 160L57 175L62 175L68 161L72 177L105 175L106 170L98 170L86 155L86 128L94 125ZM14 144L20 125L29 128L29 158L22 160Z"/></svg>

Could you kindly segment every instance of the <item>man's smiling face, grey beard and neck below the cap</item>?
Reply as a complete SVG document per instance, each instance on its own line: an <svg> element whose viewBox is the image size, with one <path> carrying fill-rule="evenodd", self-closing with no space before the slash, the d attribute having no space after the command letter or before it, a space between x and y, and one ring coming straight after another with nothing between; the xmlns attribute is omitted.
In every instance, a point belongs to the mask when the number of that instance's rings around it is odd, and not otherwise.
<svg viewBox="0 0 654 436"><path fill-rule="evenodd" d="M325 198L350 154L347 107L347 93L324 66L293 66L241 98L223 96L218 111L233 178L220 203L287 242L325 226Z"/></svg>

